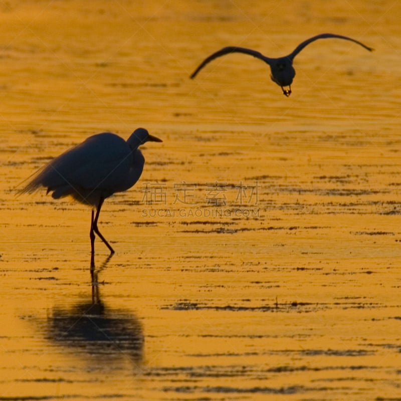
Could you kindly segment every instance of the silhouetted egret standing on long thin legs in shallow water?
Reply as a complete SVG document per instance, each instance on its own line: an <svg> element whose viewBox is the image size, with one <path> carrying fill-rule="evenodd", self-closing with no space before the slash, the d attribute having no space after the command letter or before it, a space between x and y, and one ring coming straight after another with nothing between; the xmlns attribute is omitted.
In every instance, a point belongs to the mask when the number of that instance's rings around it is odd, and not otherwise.
<svg viewBox="0 0 401 401"><path fill-rule="evenodd" d="M95 233L113 254L113 248L97 227L100 209L106 197L129 189L139 179L145 159L138 147L147 141L162 142L144 128L136 129L127 141L110 132L90 136L35 173L20 193L32 193L44 186L54 199L71 195L78 202L92 206L92 258Z"/></svg>

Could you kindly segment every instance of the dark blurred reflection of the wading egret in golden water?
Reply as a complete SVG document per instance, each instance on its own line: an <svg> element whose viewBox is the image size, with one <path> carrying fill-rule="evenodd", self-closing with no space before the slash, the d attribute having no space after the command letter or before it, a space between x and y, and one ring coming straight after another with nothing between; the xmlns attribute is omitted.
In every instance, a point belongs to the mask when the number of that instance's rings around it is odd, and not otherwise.
<svg viewBox="0 0 401 401"><path fill-rule="evenodd" d="M141 323L132 312L112 309L100 297L98 275L111 256L99 269L91 263L91 300L75 303L70 309L53 308L47 321L48 338L83 357L98 356L102 364L129 359L138 366L144 345Z"/></svg>

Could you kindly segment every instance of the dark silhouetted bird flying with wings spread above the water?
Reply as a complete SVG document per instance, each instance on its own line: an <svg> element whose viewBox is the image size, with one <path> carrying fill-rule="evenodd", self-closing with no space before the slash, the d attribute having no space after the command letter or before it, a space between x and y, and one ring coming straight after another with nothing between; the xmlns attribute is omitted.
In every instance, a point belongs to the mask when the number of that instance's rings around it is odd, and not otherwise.
<svg viewBox="0 0 401 401"><path fill-rule="evenodd" d="M204 68L212 60L214 60L218 57L224 56L226 54L231 54L231 53L244 53L244 54L248 54L250 56L256 57L257 59L262 60L265 63L269 64L270 70L271 70L270 78L277 85L281 86L281 89L285 96L290 96L292 80L295 77L295 70L294 70L294 67L292 66L295 56L305 46L309 45L309 43L314 42L318 39L327 39L327 38L345 39L347 41L354 42L354 43L364 47L366 50L369 50L369 52L371 52L373 50L372 48L365 46L363 43L360 43L360 42L356 41L355 39L348 38L348 37L342 36L342 35L336 35L336 34L320 34L320 35L313 36L312 38L309 38L306 41L299 44L295 48L295 50L292 53L290 53L288 56L279 57L277 59L272 59L270 57L266 57L262 53L259 53L252 49L246 49L243 47L236 47L236 46L228 46L228 47L225 47L225 48L219 50L216 53L213 53L208 58L206 58L199 65L199 67L196 68L196 70L192 73L190 78L192 78L192 79L195 78L197 73L200 70L202 70L202 68ZM284 89L285 86L288 86L289 88Z"/></svg>

